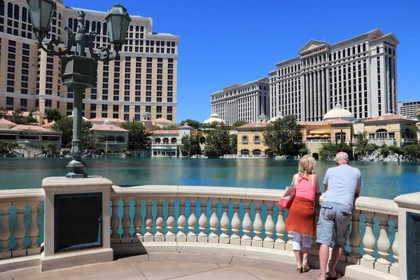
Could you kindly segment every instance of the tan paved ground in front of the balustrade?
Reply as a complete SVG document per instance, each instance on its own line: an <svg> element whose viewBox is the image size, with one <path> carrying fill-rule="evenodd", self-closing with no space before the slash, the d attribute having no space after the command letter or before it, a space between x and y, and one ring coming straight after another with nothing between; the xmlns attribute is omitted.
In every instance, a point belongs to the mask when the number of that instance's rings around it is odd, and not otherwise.
<svg viewBox="0 0 420 280"><path fill-rule="evenodd" d="M318 270L311 270L304 274L296 274L293 265L279 263L281 267L273 267L274 270L241 265L221 265L217 263L202 262L153 262L117 260L97 265L84 265L58 269L50 272L31 274L28 276L15 277L13 280L49 280L49 279L233 279L233 280L279 280L279 279L314 279ZM276 271L277 270L277 271ZM281 270L281 271L279 271ZM343 277L343 280L350 280Z"/></svg>

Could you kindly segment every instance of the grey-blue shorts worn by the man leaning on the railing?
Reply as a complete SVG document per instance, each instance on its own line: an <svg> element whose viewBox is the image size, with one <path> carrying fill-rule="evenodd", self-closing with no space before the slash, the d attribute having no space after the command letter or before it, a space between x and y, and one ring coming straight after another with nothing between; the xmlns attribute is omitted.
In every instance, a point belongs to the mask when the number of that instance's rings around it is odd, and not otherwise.
<svg viewBox="0 0 420 280"><path fill-rule="evenodd" d="M316 243L331 246L346 244L350 235L351 208L335 202L324 202L319 212L316 227Z"/></svg>

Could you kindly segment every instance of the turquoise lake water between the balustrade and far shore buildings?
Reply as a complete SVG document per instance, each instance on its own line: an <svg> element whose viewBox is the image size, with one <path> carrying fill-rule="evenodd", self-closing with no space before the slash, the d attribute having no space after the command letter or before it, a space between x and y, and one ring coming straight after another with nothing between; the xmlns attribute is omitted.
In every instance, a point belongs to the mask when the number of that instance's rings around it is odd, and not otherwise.
<svg viewBox="0 0 420 280"><path fill-rule="evenodd" d="M41 188L49 176L64 176L68 159L0 158L0 190ZM107 158L86 159L85 172L118 186L185 185L283 189L297 172L297 161L265 159ZM361 195L393 199L420 192L419 162L351 162L363 175ZM334 162L318 161L323 180ZM323 191L323 184L320 184Z"/></svg>

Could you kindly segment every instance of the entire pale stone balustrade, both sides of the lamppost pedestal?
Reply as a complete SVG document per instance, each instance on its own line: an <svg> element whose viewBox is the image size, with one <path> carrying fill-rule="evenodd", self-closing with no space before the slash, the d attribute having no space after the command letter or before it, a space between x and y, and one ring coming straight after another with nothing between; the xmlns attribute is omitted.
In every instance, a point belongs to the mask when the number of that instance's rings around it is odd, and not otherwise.
<svg viewBox="0 0 420 280"><path fill-rule="evenodd" d="M173 250L172 244L186 244L191 253L199 252L200 246L224 246L232 252L258 248L267 255L283 252L294 258L292 232L285 232L287 211L277 206L281 195L283 190L258 188L113 186L111 247L124 245L127 249L142 242L146 250L159 246ZM42 189L0 192L0 262L41 253L43 200ZM319 200L322 203L323 197ZM393 200L358 197L354 208L351 235L341 260L363 273L383 276L379 279L395 279L399 269L398 205ZM316 219L319 210L317 207ZM212 252L218 253L217 248ZM314 265L318 248L313 242Z"/></svg>

